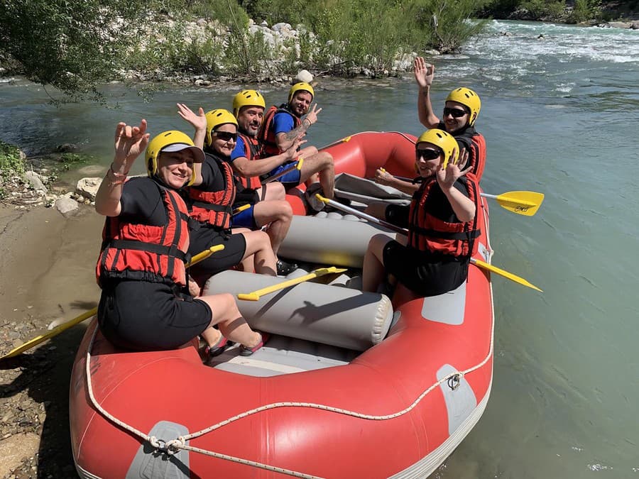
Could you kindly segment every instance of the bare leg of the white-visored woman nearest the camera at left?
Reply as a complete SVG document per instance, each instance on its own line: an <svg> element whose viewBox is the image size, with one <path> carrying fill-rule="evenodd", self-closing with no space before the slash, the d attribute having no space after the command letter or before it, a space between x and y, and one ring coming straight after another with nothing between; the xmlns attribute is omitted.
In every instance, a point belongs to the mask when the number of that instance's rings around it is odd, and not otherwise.
<svg viewBox="0 0 639 479"><path fill-rule="evenodd" d="M257 331L253 331L251 326L249 326L249 324L247 324L241 316L239 309L237 309L235 298L231 294L212 294L210 296L202 296L197 299L201 299L206 302L209 307L211 307L213 312L211 326L218 324L222 334L231 341L241 343L248 348L253 348L262 340L261 335ZM209 341L206 336L210 334L212 329L213 328L208 328L202 334L207 343Z"/></svg>

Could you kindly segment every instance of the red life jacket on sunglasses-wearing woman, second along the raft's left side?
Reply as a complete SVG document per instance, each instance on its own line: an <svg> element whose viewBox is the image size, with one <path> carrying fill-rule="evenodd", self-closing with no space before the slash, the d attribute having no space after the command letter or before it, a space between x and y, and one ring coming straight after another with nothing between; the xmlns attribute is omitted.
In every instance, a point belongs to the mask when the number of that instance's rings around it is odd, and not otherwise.
<svg viewBox="0 0 639 479"><path fill-rule="evenodd" d="M236 191L233 169L227 161L210 152L206 152L206 161L217 165L219 171L224 175L224 189L209 192L201 189L202 185L189 187L189 197L192 199L191 218L220 229L229 229Z"/></svg>

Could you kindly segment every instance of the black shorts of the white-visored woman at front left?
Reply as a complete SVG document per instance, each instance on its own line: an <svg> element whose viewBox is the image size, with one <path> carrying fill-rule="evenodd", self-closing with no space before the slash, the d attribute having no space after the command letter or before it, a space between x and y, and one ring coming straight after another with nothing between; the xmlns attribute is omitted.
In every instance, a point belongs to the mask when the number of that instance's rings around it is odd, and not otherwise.
<svg viewBox="0 0 639 479"><path fill-rule="evenodd" d="M209 305L168 285L119 281L102 290L98 321L104 337L135 351L173 349L209 327Z"/></svg>

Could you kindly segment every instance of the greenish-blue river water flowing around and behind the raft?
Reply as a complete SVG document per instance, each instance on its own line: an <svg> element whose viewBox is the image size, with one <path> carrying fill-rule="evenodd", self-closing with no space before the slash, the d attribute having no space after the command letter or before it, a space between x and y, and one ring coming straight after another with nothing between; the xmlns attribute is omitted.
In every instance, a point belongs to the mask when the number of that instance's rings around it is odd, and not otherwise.
<svg viewBox="0 0 639 479"><path fill-rule="evenodd" d="M546 195L532 217L492 205L493 264L545 292L493 276L491 400L434 477L639 478L639 31L491 21L461 54L429 61L436 111L453 87L481 97L484 190ZM0 138L29 154L75 143L107 165L117 121L187 130L176 101L229 108L241 87L174 87L145 102L111 84L104 92L116 109L56 108L39 85L3 82ZM286 95L262 92L271 103ZM422 132L410 72L366 86L320 79L316 92L323 111L311 144Z"/></svg>

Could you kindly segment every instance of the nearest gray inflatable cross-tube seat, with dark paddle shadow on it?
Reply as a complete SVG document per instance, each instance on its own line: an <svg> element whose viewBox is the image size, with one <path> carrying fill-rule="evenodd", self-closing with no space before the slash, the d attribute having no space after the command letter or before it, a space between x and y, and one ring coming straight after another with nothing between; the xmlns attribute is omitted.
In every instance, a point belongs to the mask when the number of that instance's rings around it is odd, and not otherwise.
<svg viewBox="0 0 639 479"><path fill-rule="evenodd" d="M230 292L237 297L282 281L229 270L213 276L203 294ZM313 282L266 294L258 301L238 299L237 305L253 329L354 351L381 342L393 319L391 300L384 294Z"/></svg>

